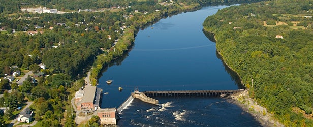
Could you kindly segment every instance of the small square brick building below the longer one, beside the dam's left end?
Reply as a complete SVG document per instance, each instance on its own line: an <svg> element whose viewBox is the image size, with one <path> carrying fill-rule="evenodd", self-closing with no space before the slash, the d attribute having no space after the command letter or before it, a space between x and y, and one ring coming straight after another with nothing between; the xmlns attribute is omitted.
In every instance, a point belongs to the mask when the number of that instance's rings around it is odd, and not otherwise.
<svg viewBox="0 0 313 127"><path fill-rule="evenodd" d="M116 125L116 108L99 109L97 115L101 125Z"/></svg>

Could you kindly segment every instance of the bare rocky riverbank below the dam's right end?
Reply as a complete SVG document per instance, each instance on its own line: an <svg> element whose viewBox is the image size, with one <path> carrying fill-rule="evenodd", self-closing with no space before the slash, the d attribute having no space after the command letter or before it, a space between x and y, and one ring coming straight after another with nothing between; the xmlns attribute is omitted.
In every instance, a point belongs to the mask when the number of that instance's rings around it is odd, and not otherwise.
<svg viewBox="0 0 313 127"><path fill-rule="evenodd" d="M249 97L249 90L246 89L242 92L233 94L229 97L229 102L238 105L245 112L250 113L260 122L262 126L284 126L273 114L267 112L265 107L260 106L256 101Z"/></svg>

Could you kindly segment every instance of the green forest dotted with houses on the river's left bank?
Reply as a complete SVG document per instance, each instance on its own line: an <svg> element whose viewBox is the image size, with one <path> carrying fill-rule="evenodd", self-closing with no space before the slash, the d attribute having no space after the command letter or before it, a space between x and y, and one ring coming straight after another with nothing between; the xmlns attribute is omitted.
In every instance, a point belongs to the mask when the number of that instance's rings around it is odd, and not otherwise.
<svg viewBox="0 0 313 127"><path fill-rule="evenodd" d="M92 68L91 83L96 85L105 68L129 52L140 28L205 5L238 2L253 1L0 0L0 107L7 107L0 113L0 126L15 119L17 108L27 101L34 102L30 109L37 126L77 126L70 100L85 85L87 71ZM63 13L22 11L44 7ZM85 9L91 11L80 12ZM41 69L40 63L47 68ZM21 74L13 81L3 78L16 71ZM29 71L44 76L36 82L28 76L17 84ZM99 126L96 121L89 123Z"/></svg>

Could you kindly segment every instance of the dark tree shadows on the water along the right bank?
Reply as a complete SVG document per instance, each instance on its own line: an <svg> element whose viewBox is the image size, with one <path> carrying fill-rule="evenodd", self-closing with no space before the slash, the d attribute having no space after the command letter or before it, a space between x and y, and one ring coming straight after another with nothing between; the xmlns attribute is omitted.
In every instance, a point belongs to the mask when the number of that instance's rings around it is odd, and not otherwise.
<svg viewBox="0 0 313 127"><path fill-rule="evenodd" d="M216 43L216 40L215 40L215 38L214 38L214 36L215 36L214 33L210 33L210 32L208 32L208 31L205 31L204 29L202 29L202 31L203 31L203 34L204 34L210 41ZM231 79L232 79L233 81L235 81L236 85L238 86L238 89L245 89L245 87L244 87L244 85L242 84L241 79L240 79L240 77L238 76L238 74L237 74L235 71L233 71L232 69L230 69L230 68L226 65L226 63L225 63L225 61L223 60L222 56L221 56L220 54L218 54L217 51L216 51L216 57L222 61L223 66L224 66L224 68L225 68L225 71L231 76Z"/></svg>

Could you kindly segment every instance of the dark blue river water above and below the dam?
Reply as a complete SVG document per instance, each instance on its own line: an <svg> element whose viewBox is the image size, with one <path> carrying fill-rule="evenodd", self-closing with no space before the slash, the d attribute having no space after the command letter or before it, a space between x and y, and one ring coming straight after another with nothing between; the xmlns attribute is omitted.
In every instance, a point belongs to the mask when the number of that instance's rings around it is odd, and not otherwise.
<svg viewBox="0 0 313 127"><path fill-rule="evenodd" d="M99 79L104 92L102 108L118 107L135 87L152 90L238 89L215 43L202 32L209 15L227 6L205 7L161 19L140 30L129 56L109 67ZM107 85L106 80L114 80ZM122 92L118 87L123 87ZM123 110L119 126L260 126L238 106L222 98L156 98L159 105L135 100Z"/></svg>

